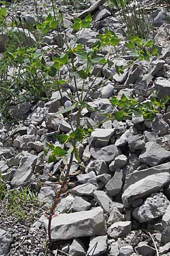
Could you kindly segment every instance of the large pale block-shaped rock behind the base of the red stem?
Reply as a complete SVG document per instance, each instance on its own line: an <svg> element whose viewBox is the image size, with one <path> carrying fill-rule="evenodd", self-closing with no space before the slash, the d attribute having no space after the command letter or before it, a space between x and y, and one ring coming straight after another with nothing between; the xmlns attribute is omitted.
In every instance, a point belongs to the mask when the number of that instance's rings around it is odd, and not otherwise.
<svg viewBox="0 0 170 256"><path fill-rule="evenodd" d="M43 221L48 231L48 219ZM83 212L59 214L52 218L51 235L53 241L69 240L76 237L104 236L106 224L101 207Z"/></svg>

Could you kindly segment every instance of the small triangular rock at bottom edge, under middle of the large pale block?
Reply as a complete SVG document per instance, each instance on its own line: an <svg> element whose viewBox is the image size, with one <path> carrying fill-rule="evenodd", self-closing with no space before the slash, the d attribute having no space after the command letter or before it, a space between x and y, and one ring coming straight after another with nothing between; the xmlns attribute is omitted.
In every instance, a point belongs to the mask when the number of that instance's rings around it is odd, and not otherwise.
<svg viewBox="0 0 170 256"><path fill-rule="evenodd" d="M74 238L73 242L69 246L70 256L84 256L86 255L85 247L79 238Z"/></svg>

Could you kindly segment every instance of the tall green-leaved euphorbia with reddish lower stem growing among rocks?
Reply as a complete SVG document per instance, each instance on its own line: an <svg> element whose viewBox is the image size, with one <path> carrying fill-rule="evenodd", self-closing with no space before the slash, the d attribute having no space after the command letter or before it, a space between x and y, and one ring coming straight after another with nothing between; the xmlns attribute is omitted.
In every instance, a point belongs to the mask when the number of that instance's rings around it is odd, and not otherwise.
<svg viewBox="0 0 170 256"><path fill-rule="evenodd" d="M163 103L160 103L156 100L150 100L147 102L139 103L135 98L127 98L124 94L120 99L118 99L116 96L113 96L110 99L110 102L111 105L113 105L115 108L109 114L101 112L101 115L103 115L102 122L97 123L94 127L86 129L80 126L81 113L84 108L94 112L97 110L88 104L88 98L91 97L94 91L104 86L108 80L112 79L115 73L121 74L126 68L129 68L134 63L137 63L137 61L143 59L149 60L151 55L157 55L156 48L154 47L152 40L146 41L139 39L136 36L129 37L128 41L124 45L124 48L121 52L119 52L117 46L120 44L121 39L119 39L114 32L109 31L107 28L105 28L105 32L103 34L99 34L97 36L96 42L92 44L91 47L84 47L82 44L77 43L79 34L84 28L90 27L91 20L91 15L88 15L84 20L74 18L74 24L72 28L74 31L78 31L75 45L73 46L72 44L72 46L70 46L69 42L66 40L67 37L65 37L65 51L63 51L62 54L59 54L57 57L52 58L53 64L51 67L54 68L54 76L57 77L55 83L58 86L58 90L61 95L63 84L70 84L71 82L74 82L75 89L73 94L70 95L68 93L68 96L71 98L72 105L69 108L63 107L63 109L59 110L56 115L67 114L76 110L77 119L76 127L71 125L72 131L70 134L56 135L56 139L61 144L61 146L54 146L54 144L46 143L46 146L50 150L48 161L56 162L56 160L62 158L63 163L65 164L65 177L61 183L61 188L59 189L59 192L53 201L52 207L50 207L49 216L46 216L49 219L48 236L50 246L52 246L52 218L57 217L54 214L56 206L62 193L67 189L67 181L71 164L74 158L78 161L78 163L82 162L78 154L79 143L81 143L83 139L90 137L93 130L95 130L97 127L100 127L102 123L108 121L109 119L117 119L117 121L122 121L126 118L131 118L132 115L134 115L136 117L143 116L144 119L151 120L155 117L155 114L159 112L160 107L164 107L166 102L166 100ZM107 56L101 54L101 49L105 46L109 47ZM114 47L115 49L114 56L111 55L111 47ZM127 65L118 67L116 64L114 64L114 60L124 55L125 53L133 55L134 58L133 60L129 61ZM100 64L100 71L104 67L114 67L115 72L113 72L112 75L107 79L104 79L102 82L100 82L100 84L96 85L95 82L97 75L100 73L99 71L94 80L88 86L85 86L86 81L89 79L89 77L92 76L95 64ZM67 81L63 79L61 72L65 69L68 72ZM79 89L77 85L78 79L82 80L81 89ZM69 121L68 116L67 118ZM67 146L69 145L69 150L66 150L66 144Z"/></svg>

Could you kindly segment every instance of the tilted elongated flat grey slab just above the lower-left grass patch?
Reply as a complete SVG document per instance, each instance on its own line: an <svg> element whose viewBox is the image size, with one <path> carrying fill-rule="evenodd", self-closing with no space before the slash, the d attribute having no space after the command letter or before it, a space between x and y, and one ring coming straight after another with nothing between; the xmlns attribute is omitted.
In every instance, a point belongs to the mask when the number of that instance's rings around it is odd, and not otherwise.
<svg viewBox="0 0 170 256"><path fill-rule="evenodd" d="M11 180L11 185L13 188L24 186L27 181L31 180L36 161L36 155L23 156L23 158L20 160L18 170L16 170L14 177Z"/></svg>

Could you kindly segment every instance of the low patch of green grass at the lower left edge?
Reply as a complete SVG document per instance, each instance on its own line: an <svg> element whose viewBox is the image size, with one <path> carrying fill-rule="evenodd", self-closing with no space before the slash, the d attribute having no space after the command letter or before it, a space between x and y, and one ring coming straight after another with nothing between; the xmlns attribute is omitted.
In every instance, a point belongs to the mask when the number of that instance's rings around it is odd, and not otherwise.
<svg viewBox="0 0 170 256"><path fill-rule="evenodd" d="M0 201L7 215L24 220L25 217L32 217L28 214L28 209L36 204L36 196L29 188L10 189L0 174Z"/></svg>

